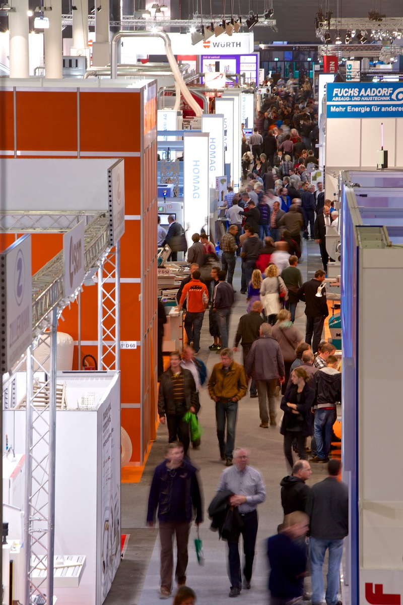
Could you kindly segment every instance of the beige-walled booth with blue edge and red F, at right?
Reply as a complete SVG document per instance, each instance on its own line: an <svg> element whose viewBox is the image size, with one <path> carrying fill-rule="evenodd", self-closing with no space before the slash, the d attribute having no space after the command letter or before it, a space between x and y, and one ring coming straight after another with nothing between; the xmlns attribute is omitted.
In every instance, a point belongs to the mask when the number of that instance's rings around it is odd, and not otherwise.
<svg viewBox="0 0 403 605"><path fill-rule="evenodd" d="M398 148L395 157L400 157ZM343 340L349 603L399 603L403 593L403 489L391 480L403 471L401 358L393 353L401 340L402 185L403 172L393 170L347 171L340 177L341 319L349 336ZM386 457L379 457L379 443L388 444Z"/></svg>

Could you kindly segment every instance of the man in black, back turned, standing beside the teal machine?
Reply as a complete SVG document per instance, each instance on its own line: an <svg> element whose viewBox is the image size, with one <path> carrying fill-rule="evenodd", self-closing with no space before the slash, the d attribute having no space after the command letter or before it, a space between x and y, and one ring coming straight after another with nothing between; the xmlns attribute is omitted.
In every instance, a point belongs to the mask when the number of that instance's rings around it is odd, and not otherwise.
<svg viewBox="0 0 403 605"><path fill-rule="evenodd" d="M312 351L318 350L318 345L323 332L324 319L329 315L326 301L326 289L321 290L321 296L316 296L318 287L322 286L326 273L322 269L315 272L313 280L306 281L302 284L297 292L297 298L305 301L306 315L306 334L305 342L309 345L312 343ZM312 336L314 341L312 342Z"/></svg>

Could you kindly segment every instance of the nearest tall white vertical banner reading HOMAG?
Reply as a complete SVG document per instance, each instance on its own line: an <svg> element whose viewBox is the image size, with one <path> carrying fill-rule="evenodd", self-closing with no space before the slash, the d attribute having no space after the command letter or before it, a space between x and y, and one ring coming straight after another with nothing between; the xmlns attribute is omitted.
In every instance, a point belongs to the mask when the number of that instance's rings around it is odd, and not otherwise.
<svg viewBox="0 0 403 605"><path fill-rule="evenodd" d="M184 132L184 228L188 246L192 235L208 223L208 133Z"/></svg>

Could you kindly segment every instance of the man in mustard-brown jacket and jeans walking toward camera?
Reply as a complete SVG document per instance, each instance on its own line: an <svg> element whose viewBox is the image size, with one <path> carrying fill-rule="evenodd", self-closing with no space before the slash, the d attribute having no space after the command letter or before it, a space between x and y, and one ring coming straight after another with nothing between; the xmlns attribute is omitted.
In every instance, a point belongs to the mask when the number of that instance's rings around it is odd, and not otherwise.
<svg viewBox="0 0 403 605"><path fill-rule="evenodd" d="M214 365L208 381L208 394L216 402L217 437L221 460L232 466L235 445L235 427L238 402L248 390L243 366L234 361L230 348L221 351L221 363ZM225 442L225 420L227 420L227 442Z"/></svg>

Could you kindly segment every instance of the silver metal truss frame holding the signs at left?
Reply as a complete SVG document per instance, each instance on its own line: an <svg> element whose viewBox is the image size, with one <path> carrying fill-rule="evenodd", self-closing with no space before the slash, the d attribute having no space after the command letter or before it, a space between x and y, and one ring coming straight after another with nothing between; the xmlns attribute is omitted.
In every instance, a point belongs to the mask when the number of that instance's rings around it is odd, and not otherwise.
<svg viewBox="0 0 403 605"><path fill-rule="evenodd" d="M63 232L85 217L85 273L98 270L98 355L100 369L120 367L120 248L111 252L109 217L94 212L3 212L0 232ZM109 256L110 254L110 256ZM56 255L32 278L33 344L25 358L19 360L14 373L27 363L26 458L25 458L25 603L31 596L42 595L46 605L53 605L54 560L54 485L56 436L56 347L57 321L62 310L76 296L63 293L63 252ZM48 331L47 331L48 330ZM35 350L47 343L48 359L39 362ZM49 363L45 369L45 363ZM40 383L37 378L40 373ZM2 385L2 400L7 409L15 407L15 377Z"/></svg>

